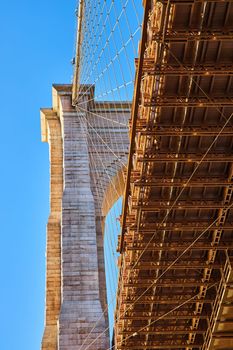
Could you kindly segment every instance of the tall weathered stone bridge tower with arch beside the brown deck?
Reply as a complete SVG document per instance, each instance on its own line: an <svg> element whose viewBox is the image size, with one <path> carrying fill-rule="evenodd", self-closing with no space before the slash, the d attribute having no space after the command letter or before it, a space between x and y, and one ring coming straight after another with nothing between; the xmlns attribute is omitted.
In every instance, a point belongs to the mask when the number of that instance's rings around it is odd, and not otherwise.
<svg viewBox="0 0 233 350"><path fill-rule="evenodd" d="M89 87L77 109L71 103L71 85L55 85L52 91L52 108L41 110L42 141L50 149L42 350L78 350L84 340L85 349L96 337L89 349L103 350L109 347L108 332L103 333L107 314L88 339L87 334L106 308L104 218L116 193L123 191L129 104L95 102L94 88ZM102 111L110 113L100 124ZM111 119L119 125L112 128ZM90 167L90 157L96 170Z"/></svg>

